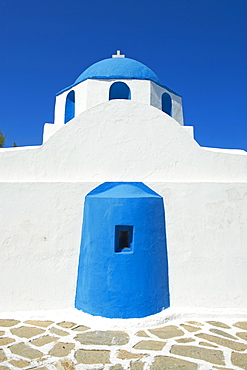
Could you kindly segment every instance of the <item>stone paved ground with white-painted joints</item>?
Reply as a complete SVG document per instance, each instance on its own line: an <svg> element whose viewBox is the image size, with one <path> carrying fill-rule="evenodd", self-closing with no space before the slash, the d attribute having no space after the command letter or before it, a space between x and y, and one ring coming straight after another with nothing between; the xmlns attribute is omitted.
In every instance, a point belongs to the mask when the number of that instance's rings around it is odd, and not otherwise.
<svg viewBox="0 0 247 370"><path fill-rule="evenodd" d="M70 321L0 319L0 370L7 369L247 369L247 321L100 331Z"/></svg>

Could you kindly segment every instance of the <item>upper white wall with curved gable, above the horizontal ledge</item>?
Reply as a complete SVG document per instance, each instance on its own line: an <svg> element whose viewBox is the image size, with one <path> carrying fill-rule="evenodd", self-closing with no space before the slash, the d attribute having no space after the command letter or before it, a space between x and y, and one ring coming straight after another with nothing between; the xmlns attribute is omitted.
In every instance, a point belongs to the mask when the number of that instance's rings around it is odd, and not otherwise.
<svg viewBox="0 0 247 370"><path fill-rule="evenodd" d="M247 181L247 153L201 148L162 111L112 100L37 149L1 151L0 181Z"/></svg>

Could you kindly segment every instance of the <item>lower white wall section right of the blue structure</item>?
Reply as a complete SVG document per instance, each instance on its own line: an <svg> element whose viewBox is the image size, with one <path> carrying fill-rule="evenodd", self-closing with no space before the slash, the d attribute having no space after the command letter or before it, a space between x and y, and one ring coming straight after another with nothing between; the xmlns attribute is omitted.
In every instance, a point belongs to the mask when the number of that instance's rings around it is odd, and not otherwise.
<svg viewBox="0 0 247 370"><path fill-rule="evenodd" d="M246 308L247 183L152 188L165 201L171 306Z"/></svg>

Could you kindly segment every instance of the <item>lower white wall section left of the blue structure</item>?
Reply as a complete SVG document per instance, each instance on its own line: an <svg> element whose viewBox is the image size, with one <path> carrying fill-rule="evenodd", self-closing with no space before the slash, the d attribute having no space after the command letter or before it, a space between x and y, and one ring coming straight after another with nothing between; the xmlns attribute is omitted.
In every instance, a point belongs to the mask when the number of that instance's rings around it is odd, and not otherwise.
<svg viewBox="0 0 247 370"><path fill-rule="evenodd" d="M84 196L91 187L0 184L0 311L73 307Z"/></svg>

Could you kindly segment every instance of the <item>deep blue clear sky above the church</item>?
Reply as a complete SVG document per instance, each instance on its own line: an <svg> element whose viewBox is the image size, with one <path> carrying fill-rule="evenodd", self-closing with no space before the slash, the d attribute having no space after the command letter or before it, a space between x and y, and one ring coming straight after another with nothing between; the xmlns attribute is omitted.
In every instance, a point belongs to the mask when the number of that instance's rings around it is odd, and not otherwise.
<svg viewBox="0 0 247 370"><path fill-rule="evenodd" d="M39 145L55 94L117 49L183 97L202 146L247 150L246 0L0 0L0 129Z"/></svg>

